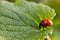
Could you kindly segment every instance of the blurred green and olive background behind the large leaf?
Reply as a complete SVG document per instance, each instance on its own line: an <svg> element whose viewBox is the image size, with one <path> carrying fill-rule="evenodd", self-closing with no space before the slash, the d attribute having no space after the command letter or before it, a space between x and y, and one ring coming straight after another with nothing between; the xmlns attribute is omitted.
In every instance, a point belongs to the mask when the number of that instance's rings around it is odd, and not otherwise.
<svg viewBox="0 0 60 40"><path fill-rule="evenodd" d="M15 2L15 0L6 0L6 1ZM51 38L52 40L60 40L60 0L27 0L27 1L43 3L55 9L56 16L53 19L54 31Z"/></svg>

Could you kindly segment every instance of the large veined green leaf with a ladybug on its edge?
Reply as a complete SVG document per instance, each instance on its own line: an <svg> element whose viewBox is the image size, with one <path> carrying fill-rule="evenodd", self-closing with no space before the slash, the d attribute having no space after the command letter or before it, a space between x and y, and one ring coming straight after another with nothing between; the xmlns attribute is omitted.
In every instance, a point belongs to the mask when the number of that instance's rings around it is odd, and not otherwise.
<svg viewBox="0 0 60 40"><path fill-rule="evenodd" d="M40 31L42 19L52 19L53 9L43 4L22 2L20 6L14 3L0 4L0 40L44 40L47 31Z"/></svg>

